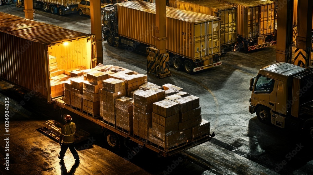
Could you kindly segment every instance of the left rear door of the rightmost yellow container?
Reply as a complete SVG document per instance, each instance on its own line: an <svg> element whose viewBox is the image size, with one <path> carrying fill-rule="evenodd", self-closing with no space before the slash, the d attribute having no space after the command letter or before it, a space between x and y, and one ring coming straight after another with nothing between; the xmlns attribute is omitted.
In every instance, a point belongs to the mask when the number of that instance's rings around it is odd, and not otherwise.
<svg viewBox="0 0 313 175"><path fill-rule="evenodd" d="M248 8L248 38L255 38L259 35L259 6Z"/></svg>

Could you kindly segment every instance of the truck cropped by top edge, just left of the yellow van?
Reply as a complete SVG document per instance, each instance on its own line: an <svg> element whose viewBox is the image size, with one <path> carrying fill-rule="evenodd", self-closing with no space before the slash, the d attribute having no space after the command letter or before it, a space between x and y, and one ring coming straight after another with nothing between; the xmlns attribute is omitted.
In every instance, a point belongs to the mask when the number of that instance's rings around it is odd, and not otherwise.
<svg viewBox="0 0 313 175"><path fill-rule="evenodd" d="M42 8L53 14L65 15L78 12L80 0L33 0L34 8Z"/></svg>

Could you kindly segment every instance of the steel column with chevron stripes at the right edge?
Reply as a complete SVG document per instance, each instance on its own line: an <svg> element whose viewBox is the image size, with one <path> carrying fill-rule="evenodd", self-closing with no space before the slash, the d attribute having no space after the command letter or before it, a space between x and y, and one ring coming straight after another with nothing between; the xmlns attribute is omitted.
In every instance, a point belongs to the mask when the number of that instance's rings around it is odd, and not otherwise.
<svg viewBox="0 0 313 175"><path fill-rule="evenodd" d="M303 68L310 66L312 49L312 13L312 0L298 1L295 65Z"/></svg>

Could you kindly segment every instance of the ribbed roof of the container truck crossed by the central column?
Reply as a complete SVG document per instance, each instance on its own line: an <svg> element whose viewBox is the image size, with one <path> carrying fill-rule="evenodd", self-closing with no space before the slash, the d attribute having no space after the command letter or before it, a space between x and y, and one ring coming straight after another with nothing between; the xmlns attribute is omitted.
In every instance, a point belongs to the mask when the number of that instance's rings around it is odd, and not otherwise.
<svg viewBox="0 0 313 175"><path fill-rule="evenodd" d="M121 2L117 4L118 6L124 6L126 8L133 8L148 13L156 13L156 5L154 3L145 2L145 1L128 1ZM218 20L219 17L213 17L206 14L189 12L186 10L181 10L178 8L166 7L166 16L169 18L179 19L186 22L203 22Z"/></svg>

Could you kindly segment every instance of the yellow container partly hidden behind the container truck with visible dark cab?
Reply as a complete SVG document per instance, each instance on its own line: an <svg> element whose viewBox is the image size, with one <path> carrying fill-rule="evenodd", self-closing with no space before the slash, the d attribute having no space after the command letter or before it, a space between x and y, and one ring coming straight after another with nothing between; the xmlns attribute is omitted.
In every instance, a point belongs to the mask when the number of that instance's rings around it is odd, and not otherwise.
<svg viewBox="0 0 313 175"><path fill-rule="evenodd" d="M237 7L215 0L168 0L168 6L221 18L221 53L233 51L237 42Z"/></svg>

